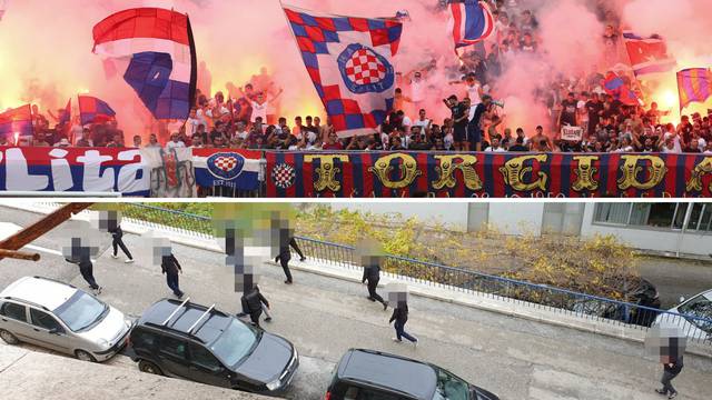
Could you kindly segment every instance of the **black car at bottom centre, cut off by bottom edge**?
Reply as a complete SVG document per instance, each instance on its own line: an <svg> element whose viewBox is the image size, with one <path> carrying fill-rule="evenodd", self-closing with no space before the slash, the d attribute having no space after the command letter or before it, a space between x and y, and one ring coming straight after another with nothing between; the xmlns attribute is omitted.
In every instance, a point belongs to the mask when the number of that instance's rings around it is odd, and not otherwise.
<svg viewBox="0 0 712 400"><path fill-rule="evenodd" d="M325 400L498 400L427 362L374 350L342 357Z"/></svg>

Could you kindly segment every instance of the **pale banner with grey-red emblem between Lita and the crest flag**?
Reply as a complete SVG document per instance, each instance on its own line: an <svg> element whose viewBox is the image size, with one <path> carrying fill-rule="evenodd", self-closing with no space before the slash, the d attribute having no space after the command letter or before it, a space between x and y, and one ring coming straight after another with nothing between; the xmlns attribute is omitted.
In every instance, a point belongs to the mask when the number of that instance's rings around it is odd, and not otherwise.
<svg viewBox="0 0 712 400"><path fill-rule="evenodd" d="M152 198L197 197L191 150L186 148L141 149L150 177Z"/></svg>

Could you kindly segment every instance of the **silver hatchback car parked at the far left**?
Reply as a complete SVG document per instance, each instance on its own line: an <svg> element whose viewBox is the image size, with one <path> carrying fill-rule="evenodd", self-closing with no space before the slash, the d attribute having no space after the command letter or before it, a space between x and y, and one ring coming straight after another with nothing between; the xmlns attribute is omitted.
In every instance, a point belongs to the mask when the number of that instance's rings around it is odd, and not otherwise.
<svg viewBox="0 0 712 400"><path fill-rule="evenodd" d="M134 322L73 286L24 277L0 292L0 338L106 361L119 352Z"/></svg>

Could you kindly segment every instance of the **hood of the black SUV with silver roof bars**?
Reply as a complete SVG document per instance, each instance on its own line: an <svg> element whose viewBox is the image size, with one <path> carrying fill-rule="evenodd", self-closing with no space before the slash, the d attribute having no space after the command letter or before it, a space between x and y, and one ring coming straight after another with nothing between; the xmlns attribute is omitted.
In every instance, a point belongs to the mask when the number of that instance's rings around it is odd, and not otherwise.
<svg viewBox="0 0 712 400"><path fill-rule="evenodd" d="M279 378L289 364L291 354L291 343L265 332L255 350L235 371L251 380L268 383Z"/></svg>

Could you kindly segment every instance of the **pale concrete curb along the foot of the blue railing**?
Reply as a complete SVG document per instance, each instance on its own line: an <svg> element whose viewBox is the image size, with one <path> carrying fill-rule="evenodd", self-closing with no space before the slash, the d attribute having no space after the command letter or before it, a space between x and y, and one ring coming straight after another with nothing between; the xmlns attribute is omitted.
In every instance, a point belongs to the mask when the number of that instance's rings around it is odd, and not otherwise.
<svg viewBox="0 0 712 400"><path fill-rule="evenodd" d="M14 204L9 206L4 202L0 201L0 206L12 207L16 209L21 209L29 212L43 213L44 211L38 210L37 207L32 208L32 204ZM46 212L49 212L46 210ZM85 214L86 216L86 214ZM72 219L81 219L81 213L79 216L73 216ZM123 231L134 233L134 234L145 234L149 231L158 232L159 234L168 237L172 242L212 251L221 253L222 250L220 247L214 241L208 240L206 238L198 238L195 236L182 234L178 230L166 229L164 226L155 226L155 227L145 227L142 224L134 223L128 221L128 219L121 223ZM152 229L155 228L155 229ZM313 258L314 259L314 258ZM267 261L266 264L278 266L275 262ZM327 262L323 262L327 264ZM290 268L309 272L315 274L320 274L328 278L340 279L350 282L360 283L360 274L362 270L356 269L347 269L347 268L329 268L325 266L315 266L307 264L300 261L290 262ZM612 323L597 323L595 320L585 320L578 317L568 316L567 311L552 311L550 309L545 309L544 307L535 303L527 303L521 300L498 298L494 296L486 296L484 293L472 293L472 292L458 292L448 288L446 286L429 282L427 284L421 283L424 281L414 280L412 278L394 276L390 273L383 273L383 278L380 280L379 287L385 287L388 282L398 282L405 283L408 287L408 291L412 294L424 297L427 299L433 299L437 301L454 303L463 307L475 308L484 311L497 312L501 314L505 314L508 317L523 318L526 320L547 323L562 328L576 329L583 332L591 332L603 334L611 338L623 339L636 343L643 343L645 340L645 332L635 328L625 327L625 326L614 326ZM699 343L688 343L686 352L704 358L712 359L712 346L704 346Z"/></svg>

